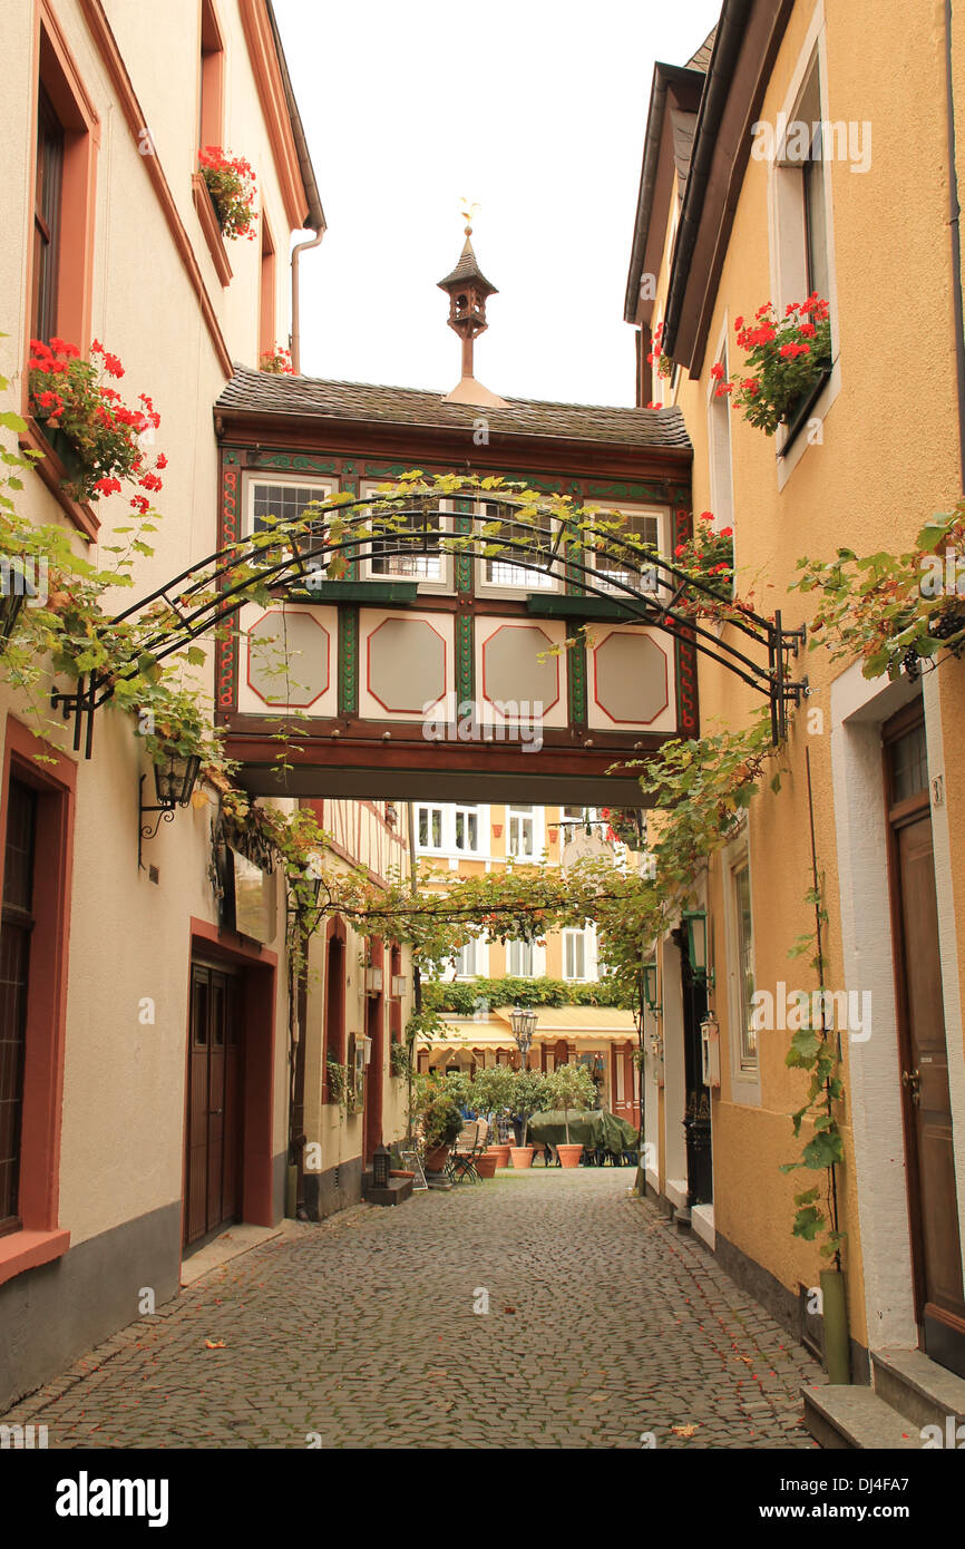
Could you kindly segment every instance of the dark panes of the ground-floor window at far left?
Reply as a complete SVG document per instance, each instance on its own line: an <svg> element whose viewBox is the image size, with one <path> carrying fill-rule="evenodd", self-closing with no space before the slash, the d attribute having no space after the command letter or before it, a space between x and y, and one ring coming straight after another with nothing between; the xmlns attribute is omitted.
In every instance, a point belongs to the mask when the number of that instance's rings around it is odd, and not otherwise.
<svg viewBox="0 0 965 1549"><path fill-rule="evenodd" d="M34 926L37 795L11 778L0 925L0 1235L20 1225L20 1120L29 946Z"/></svg>

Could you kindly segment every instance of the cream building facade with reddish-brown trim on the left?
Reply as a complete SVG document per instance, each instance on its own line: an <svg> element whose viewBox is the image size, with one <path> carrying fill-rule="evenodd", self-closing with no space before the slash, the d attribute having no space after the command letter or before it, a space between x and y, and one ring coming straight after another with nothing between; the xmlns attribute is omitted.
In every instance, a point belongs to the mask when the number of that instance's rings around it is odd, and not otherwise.
<svg viewBox="0 0 965 1549"><path fill-rule="evenodd" d="M163 519L150 545L135 545L132 587L107 593L119 610L217 547L212 406L232 359L254 370L290 342L288 246L297 232L318 245L322 206L266 0L178 0L149 28L124 3L34 0L5 8L0 42L5 445L42 454L8 493L74 553L115 562L144 489L132 480L77 497L54 432L29 412L28 361L31 339L118 356L121 398L144 393L158 415L143 446L152 465L166 460ZM200 146L251 166L254 240L222 229ZM94 341L108 355L88 356ZM212 700L211 638L197 644L186 675ZM225 1224L274 1227L302 1140L321 1179L328 1156L352 1163L344 1194L358 1197L366 1115L397 1132L401 1120L386 1032L361 1117L325 1123L324 991L311 987L302 1069L314 1106L304 1089L311 1132L294 1145L299 1018L277 857L245 853L223 823L225 782L204 774L161 821L136 714L108 703L90 747L74 744L71 722L43 713L51 686L73 692L64 674L45 675L33 700L0 677L5 1405L175 1295L183 1256ZM387 846L404 853L384 813L342 810L331 829L330 864L349 855L375 875ZM369 1024L389 1029L395 1015L386 998ZM352 1002L345 1016L361 1033Z"/></svg>

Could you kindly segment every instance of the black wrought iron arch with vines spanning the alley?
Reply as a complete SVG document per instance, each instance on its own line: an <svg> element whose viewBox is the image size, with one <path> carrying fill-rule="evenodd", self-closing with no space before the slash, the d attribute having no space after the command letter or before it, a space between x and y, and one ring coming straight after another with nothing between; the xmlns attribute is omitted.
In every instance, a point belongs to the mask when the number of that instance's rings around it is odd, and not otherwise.
<svg viewBox="0 0 965 1549"><path fill-rule="evenodd" d="M479 511L443 510L440 499L496 503L508 514L497 520ZM603 516L601 511L595 514ZM443 519L454 516L463 530L445 531ZM497 527L508 531L496 531ZM742 637L745 649L739 649L699 623L702 606L726 607L728 596L688 575L654 545L630 533L621 534L613 524L579 516L567 499L537 503L502 485L497 489L466 485L445 493L409 488L358 499L336 496L307 505L296 520L266 525L217 550L118 613L110 623L129 626L129 660L119 661L110 677L85 674L76 689L54 689L51 696L65 720L74 717L74 750L84 744L85 757L90 757L94 711L112 699L118 682L136 675L146 654L155 661L175 655L191 641L223 627L265 589L279 606L311 599L321 582L328 582L333 559L339 561L339 568L341 564L347 568L370 558L373 545L383 559L428 559L446 553L486 559L519 553L520 568L576 584L576 598L616 601L621 623L638 623L686 640L700 655L761 692L770 703L774 744L787 734L788 703L799 705L809 694L807 677L790 675L790 658L805 643L804 626L785 629L779 610L764 618L745 604L733 604L726 620ZM590 556L593 564L586 562ZM615 562L620 573L606 572L604 579L599 558ZM338 603L338 593L327 593L325 599ZM765 661L748 655L750 646L757 646Z"/></svg>

